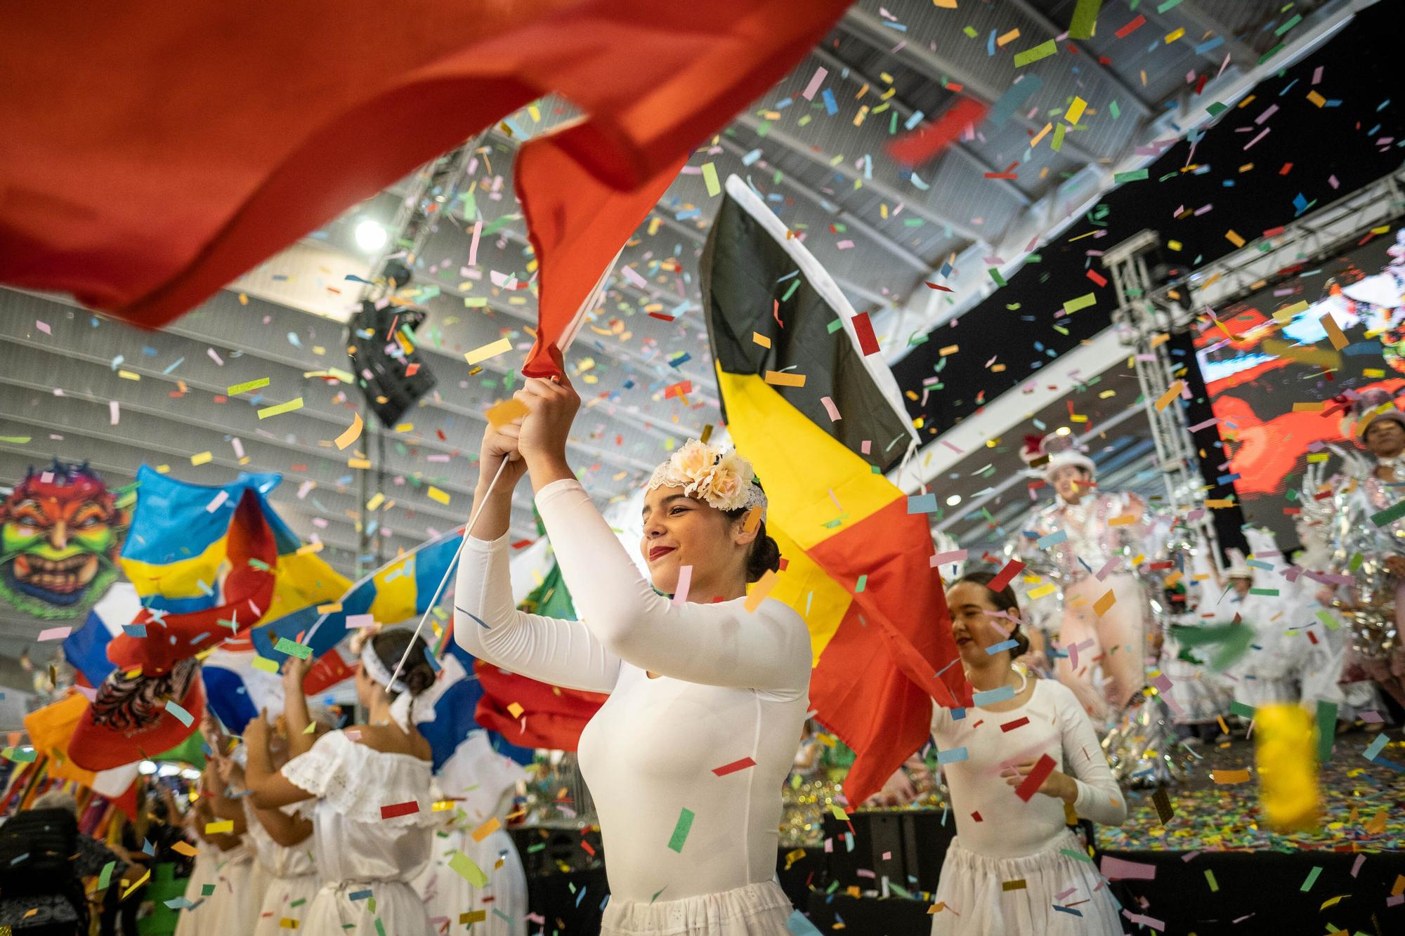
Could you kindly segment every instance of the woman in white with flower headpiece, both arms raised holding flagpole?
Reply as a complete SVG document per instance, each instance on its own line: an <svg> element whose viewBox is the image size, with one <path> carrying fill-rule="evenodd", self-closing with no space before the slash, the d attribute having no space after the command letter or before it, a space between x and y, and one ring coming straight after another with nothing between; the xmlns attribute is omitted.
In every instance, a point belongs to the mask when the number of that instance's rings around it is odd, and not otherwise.
<svg viewBox="0 0 1405 936"><path fill-rule="evenodd" d="M795 611L746 597L747 582L778 566L750 465L690 441L655 471L641 542L651 587L566 464L575 391L528 379L516 396L528 415L483 436L482 514L459 561L454 637L497 666L610 693L580 736L610 856L601 932L785 933L780 787L805 721L811 649ZM524 471L580 621L513 607L507 520Z"/></svg>

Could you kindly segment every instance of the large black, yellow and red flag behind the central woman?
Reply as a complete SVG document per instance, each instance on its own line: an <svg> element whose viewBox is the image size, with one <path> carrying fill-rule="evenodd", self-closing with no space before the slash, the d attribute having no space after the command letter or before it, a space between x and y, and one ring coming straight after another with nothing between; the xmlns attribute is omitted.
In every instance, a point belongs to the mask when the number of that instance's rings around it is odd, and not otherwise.
<svg viewBox="0 0 1405 936"><path fill-rule="evenodd" d="M809 625L811 706L857 753L858 804L926 741L932 700L969 703L927 516L884 476L916 433L867 316L735 176L701 266L724 419L785 564L771 596Z"/></svg>

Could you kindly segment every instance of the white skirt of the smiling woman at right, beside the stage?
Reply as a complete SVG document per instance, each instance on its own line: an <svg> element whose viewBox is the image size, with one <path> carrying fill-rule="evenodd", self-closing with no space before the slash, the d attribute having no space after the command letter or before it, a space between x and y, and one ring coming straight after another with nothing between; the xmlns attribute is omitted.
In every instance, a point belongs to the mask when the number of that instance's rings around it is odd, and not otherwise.
<svg viewBox="0 0 1405 936"><path fill-rule="evenodd" d="M964 849L960 836L951 839L937 878L941 909L932 916L933 936L1118 936L1123 928L1107 883L1092 862L1059 849L1086 854L1072 832L1043 852L1013 859L985 857ZM1007 881L1024 887L1007 891Z"/></svg>

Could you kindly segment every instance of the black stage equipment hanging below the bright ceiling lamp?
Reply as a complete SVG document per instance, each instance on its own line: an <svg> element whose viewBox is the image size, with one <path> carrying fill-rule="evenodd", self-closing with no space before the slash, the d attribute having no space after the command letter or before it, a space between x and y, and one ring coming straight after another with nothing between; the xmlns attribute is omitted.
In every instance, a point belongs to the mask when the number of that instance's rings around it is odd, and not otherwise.
<svg viewBox="0 0 1405 936"><path fill-rule="evenodd" d="M424 322L423 309L396 305L375 308L370 299L348 322L347 351L351 371L365 402L386 429L393 429L417 399L434 389L434 374L420 360L414 343L412 350L396 339L396 333L414 329Z"/></svg>

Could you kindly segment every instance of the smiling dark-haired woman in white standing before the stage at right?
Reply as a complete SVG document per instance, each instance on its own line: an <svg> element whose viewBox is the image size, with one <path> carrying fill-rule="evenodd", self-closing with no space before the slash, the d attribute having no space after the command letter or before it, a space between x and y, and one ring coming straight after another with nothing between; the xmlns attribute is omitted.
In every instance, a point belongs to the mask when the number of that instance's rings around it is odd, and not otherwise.
<svg viewBox="0 0 1405 936"><path fill-rule="evenodd" d="M932 932L1121 933L1106 883L1092 863L1072 857L1086 849L1065 825L1065 807L1093 822L1121 825L1127 804L1073 693L1012 666L1024 649L1019 604L1009 586L992 592L992 578L974 572L947 590L967 679L978 698L979 693L1003 698L964 713L933 707L932 735L944 755L957 836L937 880L940 909ZM1010 639L1014 649L988 652ZM1035 791L1026 790L1026 801L1017 791L1045 755L1054 770ZM1024 885L1007 890L1007 881Z"/></svg>

